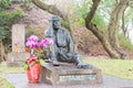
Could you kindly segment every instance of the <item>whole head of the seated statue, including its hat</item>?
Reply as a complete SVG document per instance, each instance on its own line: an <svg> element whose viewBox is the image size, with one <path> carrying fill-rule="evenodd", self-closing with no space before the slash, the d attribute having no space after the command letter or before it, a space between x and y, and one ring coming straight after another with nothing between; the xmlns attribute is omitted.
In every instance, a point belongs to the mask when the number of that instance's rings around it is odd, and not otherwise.
<svg viewBox="0 0 133 88"><path fill-rule="evenodd" d="M50 19L50 21L52 21L54 30L58 30L58 29L61 28L60 19L57 15L52 15L52 18Z"/></svg>

